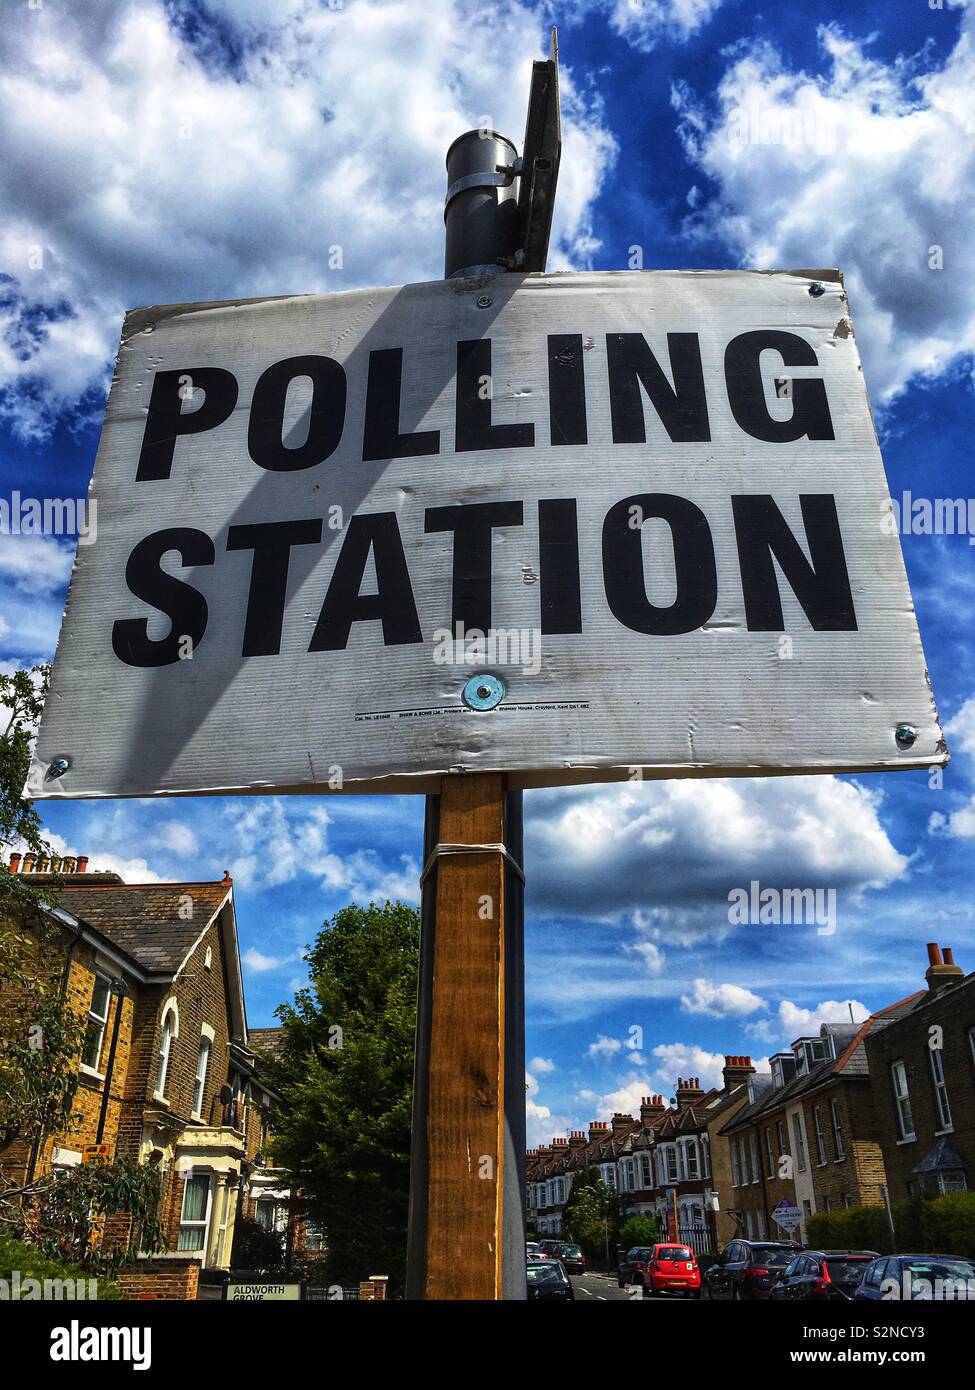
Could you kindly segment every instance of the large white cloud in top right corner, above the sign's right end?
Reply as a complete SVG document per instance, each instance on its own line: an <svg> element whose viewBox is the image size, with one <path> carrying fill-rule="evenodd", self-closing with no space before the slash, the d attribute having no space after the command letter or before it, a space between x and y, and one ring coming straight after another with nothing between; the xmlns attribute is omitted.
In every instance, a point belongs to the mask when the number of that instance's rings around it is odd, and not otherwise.
<svg viewBox="0 0 975 1390"><path fill-rule="evenodd" d="M675 89L688 154L718 186L690 227L743 264L844 270L882 402L975 349L975 11L953 3L961 36L933 68L933 49L886 64L828 25L825 75L758 42L736 47L716 111Z"/></svg>

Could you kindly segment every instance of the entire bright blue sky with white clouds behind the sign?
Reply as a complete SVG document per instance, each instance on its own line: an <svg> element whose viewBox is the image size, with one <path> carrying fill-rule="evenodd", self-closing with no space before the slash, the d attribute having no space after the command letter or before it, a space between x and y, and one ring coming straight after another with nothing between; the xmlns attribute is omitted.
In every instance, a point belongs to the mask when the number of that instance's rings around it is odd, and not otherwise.
<svg viewBox="0 0 975 1390"><path fill-rule="evenodd" d="M975 493L971 4L107 0L22 6L0 36L0 498L83 496L125 309L437 278L446 145L485 115L520 139L552 19L551 267L622 268L633 247L648 268L839 265L893 496ZM928 940L975 963L975 546L903 545L953 753L940 785L527 794L533 1138L903 997ZM0 534L4 669L53 653L72 553ZM255 1024L323 917L417 897L420 798L43 815L131 880L229 867ZM835 890L836 931L732 926L727 892L752 878Z"/></svg>

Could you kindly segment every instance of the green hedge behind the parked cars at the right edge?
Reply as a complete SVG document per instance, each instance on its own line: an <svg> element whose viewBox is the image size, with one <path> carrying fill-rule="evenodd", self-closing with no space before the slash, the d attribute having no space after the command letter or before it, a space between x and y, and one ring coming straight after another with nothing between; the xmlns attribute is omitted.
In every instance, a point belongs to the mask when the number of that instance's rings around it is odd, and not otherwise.
<svg viewBox="0 0 975 1390"><path fill-rule="evenodd" d="M807 1241L821 1250L876 1250L882 1255L962 1255L975 1259L975 1193L947 1193L893 1204L897 1248L892 1250L883 1207L846 1207L816 1212L805 1223Z"/></svg>

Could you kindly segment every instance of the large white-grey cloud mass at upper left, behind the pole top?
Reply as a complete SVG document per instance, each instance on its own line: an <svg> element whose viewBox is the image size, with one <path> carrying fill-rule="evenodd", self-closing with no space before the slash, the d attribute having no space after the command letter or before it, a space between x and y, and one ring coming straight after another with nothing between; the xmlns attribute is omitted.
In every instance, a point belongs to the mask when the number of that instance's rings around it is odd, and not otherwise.
<svg viewBox="0 0 975 1390"><path fill-rule="evenodd" d="M520 139L547 43L516 0L218 8L232 61L160 0L0 29L0 414L26 438L97 409L127 307L435 279L446 147L484 117ZM552 268L591 253L615 152L570 72L562 113Z"/></svg>

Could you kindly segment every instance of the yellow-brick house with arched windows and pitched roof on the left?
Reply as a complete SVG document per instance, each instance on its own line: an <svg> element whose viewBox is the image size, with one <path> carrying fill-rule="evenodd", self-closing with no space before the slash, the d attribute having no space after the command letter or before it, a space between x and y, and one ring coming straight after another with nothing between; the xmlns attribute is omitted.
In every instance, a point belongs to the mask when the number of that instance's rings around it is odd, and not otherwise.
<svg viewBox="0 0 975 1390"><path fill-rule="evenodd" d="M154 1262L160 1279L167 1259L227 1269L238 1213L260 1215L261 1183L287 1190L267 1166L271 1091L246 1024L229 874L125 884L114 873L88 873L85 859L42 863L38 874L32 856L21 870L14 855L10 867L57 894L50 920L64 951L63 990L88 1031L65 1133L11 1145L6 1172L70 1168L95 1144L159 1165L168 1247ZM132 1236L115 1218L102 1240L128 1244ZM175 1295L192 1297L193 1277Z"/></svg>

